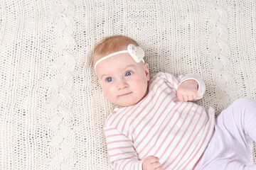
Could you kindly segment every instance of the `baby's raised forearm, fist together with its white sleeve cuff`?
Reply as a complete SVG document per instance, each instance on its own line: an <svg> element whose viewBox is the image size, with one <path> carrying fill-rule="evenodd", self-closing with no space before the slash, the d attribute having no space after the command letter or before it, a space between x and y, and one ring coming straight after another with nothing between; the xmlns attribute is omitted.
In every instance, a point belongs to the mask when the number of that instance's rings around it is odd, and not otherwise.
<svg viewBox="0 0 256 170"><path fill-rule="evenodd" d="M187 74L181 78L178 85L177 97L179 101L193 101L203 98L206 91L206 85L196 74Z"/></svg>

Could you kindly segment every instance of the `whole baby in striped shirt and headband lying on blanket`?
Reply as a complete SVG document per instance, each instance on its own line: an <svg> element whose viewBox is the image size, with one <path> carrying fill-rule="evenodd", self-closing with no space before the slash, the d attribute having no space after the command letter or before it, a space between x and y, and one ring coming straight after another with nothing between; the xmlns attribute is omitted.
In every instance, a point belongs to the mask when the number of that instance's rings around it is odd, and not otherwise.
<svg viewBox="0 0 256 170"><path fill-rule="evenodd" d="M113 169L256 169L256 102L235 101L215 120L196 74L149 75L144 50L122 35L95 47L93 64L105 96L117 108L105 123Z"/></svg>

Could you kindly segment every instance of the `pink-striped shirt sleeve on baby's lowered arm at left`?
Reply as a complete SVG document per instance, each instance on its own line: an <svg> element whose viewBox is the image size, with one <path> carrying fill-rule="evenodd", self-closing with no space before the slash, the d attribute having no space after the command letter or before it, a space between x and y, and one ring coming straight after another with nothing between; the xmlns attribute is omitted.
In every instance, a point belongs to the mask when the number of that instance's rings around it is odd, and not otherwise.
<svg viewBox="0 0 256 170"><path fill-rule="evenodd" d="M142 170L132 140L116 128L105 128L105 138L112 169Z"/></svg>

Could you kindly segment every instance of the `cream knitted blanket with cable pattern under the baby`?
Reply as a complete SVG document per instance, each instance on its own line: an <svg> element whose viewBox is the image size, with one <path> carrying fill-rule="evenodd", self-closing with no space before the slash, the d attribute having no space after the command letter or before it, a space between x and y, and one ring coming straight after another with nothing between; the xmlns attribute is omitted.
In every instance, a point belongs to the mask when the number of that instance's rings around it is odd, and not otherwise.
<svg viewBox="0 0 256 170"><path fill-rule="evenodd" d="M256 99L255 23L255 0L1 0L0 169L110 169L92 68L105 36L137 40L151 73L199 74L217 114Z"/></svg>

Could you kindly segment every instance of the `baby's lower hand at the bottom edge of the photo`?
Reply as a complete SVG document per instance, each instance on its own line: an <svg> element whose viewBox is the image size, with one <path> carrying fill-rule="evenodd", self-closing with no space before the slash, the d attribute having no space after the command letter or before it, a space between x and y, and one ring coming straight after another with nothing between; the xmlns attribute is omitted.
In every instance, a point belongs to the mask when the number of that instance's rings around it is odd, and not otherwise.
<svg viewBox="0 0 256 170"><path fill-rule="evenodd" d="M159 158L154 156L146 157L143 160L142 169L143 170L161 170L162 168L159 162Z"/></svg>

